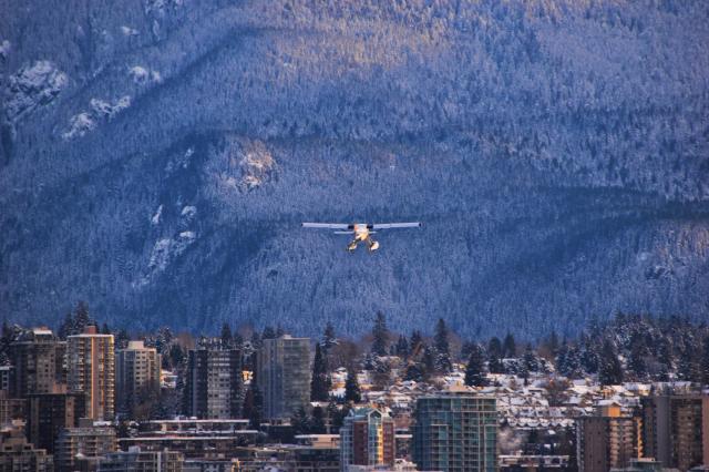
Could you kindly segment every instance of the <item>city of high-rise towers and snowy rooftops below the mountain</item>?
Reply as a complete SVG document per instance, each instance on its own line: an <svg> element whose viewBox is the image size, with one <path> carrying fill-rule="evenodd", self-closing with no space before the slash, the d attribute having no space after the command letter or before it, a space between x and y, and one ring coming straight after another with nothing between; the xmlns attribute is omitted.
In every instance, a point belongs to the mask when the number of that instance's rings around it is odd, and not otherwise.
<svg viewBox="0 0 709 472"><path fill-rule="evenodd" d="M70 343L59 348L64 361L43 365L83 371L84 359L92 359L99 372L122 371L123 379L88 401L91 384L68 389L63 379L71 374L50 372L51 392L13 396L13 380L31 378L34 363L18 363L14 373L7 369L0 448L10 448L8 461L42 471L133 470L165 461L179 472L216 466L207 453L214 450L225 470L256 471L270 463L284 471L453 472L544 464L595 472L688 471L709 460L709 396L702 392L709 386L709 332L687 320L674 320L675 330L686 331L670 334L662 319L624 316L609 326L589 326L599 339L561 340L552 334L532 347L510 334L486 346L460 345L442 319L433 337L414 331L408 339L379 316L352 350L352 341L337 337L332 326L320 339L266 328L244 340L224 326L215 338L171 337L167 330L114 341L112 334L96 334L86 315L79 310L75 320L88 326L72 326L81 334L63 334ZM623 332L630 334L627 346ZM679 358L654 366L662 358L651 357L650 346L634 335L639 332L658 336L658 352L668 346ZM686 348L677 343L698 332L706 353L682 357ZM11 359L27 359L27 352L47 357L55 352L48 345L64 342L47 328L7 325L0 341L0 356L9 352ZM99 355L101 346L112 346L115 357ZM643 359L636 353L640 346L650 349ZM146 379L158 358L155 384ZM133 397L134 404L115 415L89 412L111 397Z"/></svg>

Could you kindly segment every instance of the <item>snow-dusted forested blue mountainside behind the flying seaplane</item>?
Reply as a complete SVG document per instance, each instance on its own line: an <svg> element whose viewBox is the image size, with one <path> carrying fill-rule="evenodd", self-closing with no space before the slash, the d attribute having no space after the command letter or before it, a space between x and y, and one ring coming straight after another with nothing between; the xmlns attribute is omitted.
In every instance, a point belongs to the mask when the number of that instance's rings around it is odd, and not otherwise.
<svg viewBox="0 0 709 472"><path fill-rule="evenodd" d="M0 315L709 319L709 3L0 0ZM301 220L421 219L348 255Z"/></svg>

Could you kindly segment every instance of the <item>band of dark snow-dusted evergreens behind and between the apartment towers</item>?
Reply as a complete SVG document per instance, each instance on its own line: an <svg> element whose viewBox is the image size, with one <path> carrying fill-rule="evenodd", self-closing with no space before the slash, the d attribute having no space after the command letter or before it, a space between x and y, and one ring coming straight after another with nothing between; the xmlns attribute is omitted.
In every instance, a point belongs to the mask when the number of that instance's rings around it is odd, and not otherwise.
<svg viewBox="0 0 709 472"><path fill-rule="evenodd" d="M82 332L89 325L99 326L90 316L89 307L80 301L68 314L58 329L58 337ZM19 339L24 328L2 324L0 335L0 362L9 362L9 347ZM113 334L116 349L124 348L131 339L125 330L113 330L106 324L102 334ZM244 369L256 374L256 352L265 339L285 334L280 327L250 327L233 330L224 324L217 341L227 348L240 349ZM134 418L169 418L181 412L179 398L184 390L188 349L195 342L215 338L201 337L196 341L189 335L175 336L169 328L133 337L142 338L154 347L163 359L163 368L173 370L178 378L177 391L145 392L138 401ZM458 368L464 369L467 386L484 387L494 377L489 373L508 373L525 382L532 373L555 373L567 379L594 378L600 384L619 384L624 381L682 380L709 384L709 328L695 324L687 317L651 317L648 315L618 314L613 319L592 321L575 338L559 339L555 331L536 342L518 342L507 332L502 339L461 340L440 318L431 337L414 329L410 335L391 331L387 317L378 312L371 330L354 341L337 336L332 324L322 329L322 337L315 341L310 399L317 407L298 411L294 417L295 429L300 432L321 432L339 428L352 404L361 401L358 373L369 372L372 388L386 389L397 380L432 382ZM345 393L332 397L332 374L338 368L347 371ZM165 389L163 389L165 390ZM243 393L243 417L257 428L263 420L263 394L256 377Z"/></svg>

